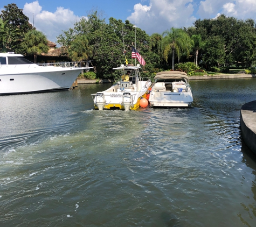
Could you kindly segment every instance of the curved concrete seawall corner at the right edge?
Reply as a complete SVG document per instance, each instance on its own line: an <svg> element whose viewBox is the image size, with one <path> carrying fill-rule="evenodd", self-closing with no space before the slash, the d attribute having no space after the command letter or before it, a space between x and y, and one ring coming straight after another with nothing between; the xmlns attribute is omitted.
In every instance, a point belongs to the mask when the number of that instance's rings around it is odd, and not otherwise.
<svg viewBox="0 0 256 227"><path fill-rule="evenodd" d="M242 105L240 126L245 144L256 154L256 100Z"/></svg>

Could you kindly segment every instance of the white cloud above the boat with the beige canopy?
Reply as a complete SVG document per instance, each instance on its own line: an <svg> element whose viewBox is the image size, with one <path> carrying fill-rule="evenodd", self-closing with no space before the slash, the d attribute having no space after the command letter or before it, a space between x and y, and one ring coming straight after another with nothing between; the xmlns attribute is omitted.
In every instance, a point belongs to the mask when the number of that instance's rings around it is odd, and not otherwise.
<svg viewBox="0 0 256 227"><path fill-rule="evenodd" d="M196 20L192 16L193 0L150 0L149 6L134 5L134 12L127 18L148 34L162 33L171 27L188 27Z"/></svg>

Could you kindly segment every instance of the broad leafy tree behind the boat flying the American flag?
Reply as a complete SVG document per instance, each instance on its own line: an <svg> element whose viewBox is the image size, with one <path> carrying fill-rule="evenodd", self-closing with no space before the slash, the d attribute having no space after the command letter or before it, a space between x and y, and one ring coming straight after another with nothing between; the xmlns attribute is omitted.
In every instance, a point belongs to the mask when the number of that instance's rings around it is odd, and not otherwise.
<svg viewBox="0 0 256 227"><path fill-rule="evenodd" d="M109 24L106 24L105 19L101 19L95 11L57 38L59 44L78 50L81 48L78 37L81 36L88 40L86 46L92 51L88 56L95 65L98 77L115 79L117 75L112 69L124 64L125 57L129 63L135 63L131 58L132 46L135 46L135 27L128 20L123 23L122 20L109 18ZM146 61L143 69L153 70L159 58L156 53L151 52L149 36L139 28L136 28L136 49ZM71 56L71 52L68 53Z"/></svg>

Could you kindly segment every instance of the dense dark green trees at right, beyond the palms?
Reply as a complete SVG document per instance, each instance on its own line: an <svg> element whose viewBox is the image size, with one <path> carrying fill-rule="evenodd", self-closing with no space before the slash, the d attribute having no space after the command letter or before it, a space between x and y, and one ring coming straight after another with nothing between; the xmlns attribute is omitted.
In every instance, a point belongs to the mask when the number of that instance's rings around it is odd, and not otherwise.
<svg viewBox="0 0 256 227"><path fill-rule="evenodd" d="M256 61L256 30L252 19L245 21L220 15L216 19L196 20L196 30L205 42L200 62L207 69L211 66L250 67ZM192 30L190 30L192 31Z"/></svg>

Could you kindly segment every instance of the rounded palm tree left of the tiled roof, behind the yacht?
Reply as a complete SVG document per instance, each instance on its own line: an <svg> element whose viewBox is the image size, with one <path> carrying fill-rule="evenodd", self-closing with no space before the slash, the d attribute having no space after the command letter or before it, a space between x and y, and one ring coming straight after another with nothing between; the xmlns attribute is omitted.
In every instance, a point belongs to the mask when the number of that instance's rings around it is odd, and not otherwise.
<svg viewBox="0 0 256 227"><path fill-rule="evenodd" d="M25 34L21 46L25 53L34 55L34 63L37 63L37 55L49 51L47 42L47 38L42 32L33 29Z"/></svg>

